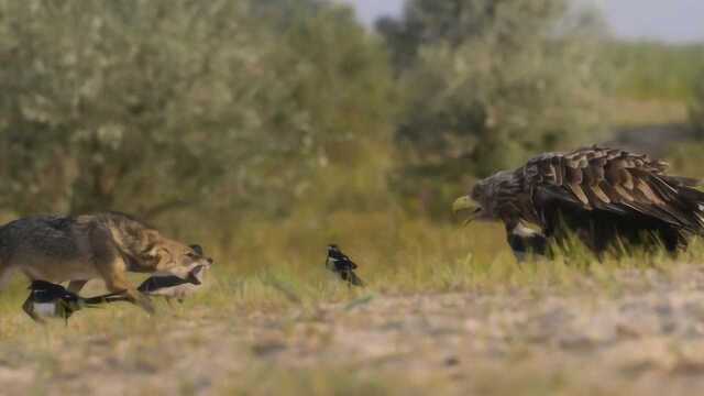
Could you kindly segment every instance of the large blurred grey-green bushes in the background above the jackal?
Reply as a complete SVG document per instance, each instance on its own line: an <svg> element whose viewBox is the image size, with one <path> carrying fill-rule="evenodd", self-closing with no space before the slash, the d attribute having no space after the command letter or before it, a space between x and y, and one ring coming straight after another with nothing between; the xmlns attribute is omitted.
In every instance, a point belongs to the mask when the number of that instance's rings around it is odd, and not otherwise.
<svg viewBox="0 0 704 396"><path fill-rule="evenodd" d="M391 131L381 46L312 0L0 0L0 59L18 215L282 213Z"/></svg>

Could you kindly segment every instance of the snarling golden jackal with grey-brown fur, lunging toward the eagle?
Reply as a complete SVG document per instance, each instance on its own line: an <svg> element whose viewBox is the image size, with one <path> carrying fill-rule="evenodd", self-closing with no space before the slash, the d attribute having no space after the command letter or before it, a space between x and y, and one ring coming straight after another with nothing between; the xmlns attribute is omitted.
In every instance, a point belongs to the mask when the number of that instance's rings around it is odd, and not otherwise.
<svg viewBox="0 0 704 396"><path fill-rule="evenodd" d="M92 278L148 312L153 306L127 272L189 272L212 261L122 213L29 217L0 227L0 288L19 270L32 280L70 282L77 293Z"/></svg>

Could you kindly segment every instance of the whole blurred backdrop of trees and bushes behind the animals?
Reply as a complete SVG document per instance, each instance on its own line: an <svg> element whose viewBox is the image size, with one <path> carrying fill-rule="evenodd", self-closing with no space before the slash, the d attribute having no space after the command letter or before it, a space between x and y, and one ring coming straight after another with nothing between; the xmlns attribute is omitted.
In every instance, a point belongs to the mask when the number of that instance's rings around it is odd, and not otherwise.
<svg viewBox="0 0 704 396"><path fill-rule="evenodd" d="M0 0L0 217L125 211L243 268L441 250L455 195L542 151L703 175L704 46L568 0L407 0L374 29L322 0Z"/></svg>

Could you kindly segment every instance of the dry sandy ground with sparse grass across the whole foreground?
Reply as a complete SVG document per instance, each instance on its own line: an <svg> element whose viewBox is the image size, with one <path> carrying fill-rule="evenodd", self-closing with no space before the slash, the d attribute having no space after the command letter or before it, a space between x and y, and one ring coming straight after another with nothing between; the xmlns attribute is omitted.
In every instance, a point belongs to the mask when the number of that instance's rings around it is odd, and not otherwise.
<svg viewBox="0 0 704 396"><path fill-rule="evenodd" d="M138 330L78 321L2 340L0 394L704 392L704 267L693 265L568 288L191 308ZM151 324L160 318L168 324Z"/></svg>

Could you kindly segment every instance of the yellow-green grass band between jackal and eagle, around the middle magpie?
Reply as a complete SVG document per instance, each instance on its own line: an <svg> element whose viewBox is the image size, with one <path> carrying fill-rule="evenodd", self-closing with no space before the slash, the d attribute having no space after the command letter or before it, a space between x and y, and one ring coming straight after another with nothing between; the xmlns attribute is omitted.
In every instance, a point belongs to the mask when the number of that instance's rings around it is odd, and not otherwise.
<svg viewBox="0 0 704 396"><path fill-rule="evenodd" d="M231 250L216 250L209 287L178 309L198 306L218 316L231 309L284 311L323 302L364 304L377 295L572 287L584 282L608 282L623 268L667 267L696 262L702 256L701 243L695 242L676 260L664 252L636 250L598 261L584 246L572 243L569 252L558 252L551 260L536 257L519 264L505 242L503 228L494 223L463 228L422 220L400 221L382 213L366 217L341 213L316 227L298 224L290 220L252 226L253 231L240 238ZM332 224L346 227L330 231ZM324 268L324 246L332 241L360 264L358 273L366 282L366 288L349 288ZM143 276L132 278L138 284ZM26 298L25 285L23 276L18 275L11 287L2 292L0 316L20 315L19 307ZM91 285L86 289L88 295L102 292L99 284ZM98 317L116 318L132 310L135 308L130 305L119 305L116 309L97 311ZM34 329L24 318L20 322L0 322L0 338L18 336L23 332L21 329Z"/></svg>

